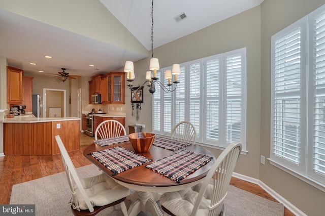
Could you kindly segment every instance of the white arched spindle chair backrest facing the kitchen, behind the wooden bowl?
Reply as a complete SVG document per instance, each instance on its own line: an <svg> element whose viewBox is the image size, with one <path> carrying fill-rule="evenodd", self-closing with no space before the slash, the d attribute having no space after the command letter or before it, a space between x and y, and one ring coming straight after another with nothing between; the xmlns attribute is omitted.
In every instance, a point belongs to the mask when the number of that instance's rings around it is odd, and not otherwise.
<svg viewBox="0 0 325 216"><path fill-rule="evenodd" d="M95 140L108 139L126 135L123 124L116 120L105 120L98 125L95 131Z"/></svg>

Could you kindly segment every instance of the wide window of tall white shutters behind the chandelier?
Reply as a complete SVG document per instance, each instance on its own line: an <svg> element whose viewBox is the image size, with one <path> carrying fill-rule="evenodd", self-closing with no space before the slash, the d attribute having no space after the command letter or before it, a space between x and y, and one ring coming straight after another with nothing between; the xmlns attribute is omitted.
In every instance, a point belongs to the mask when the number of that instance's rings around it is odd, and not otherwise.
<svg viewBox="0 0 325 216"><path fill-rule="evenodd" d="M170 69L160 69L157 77L162 80ZM190 121L197 142L226 147L239 141L245 149L246 48L182 63L180 69L174 92L156 88L153 94L153 132L170 136L175 124Z"/></svg>

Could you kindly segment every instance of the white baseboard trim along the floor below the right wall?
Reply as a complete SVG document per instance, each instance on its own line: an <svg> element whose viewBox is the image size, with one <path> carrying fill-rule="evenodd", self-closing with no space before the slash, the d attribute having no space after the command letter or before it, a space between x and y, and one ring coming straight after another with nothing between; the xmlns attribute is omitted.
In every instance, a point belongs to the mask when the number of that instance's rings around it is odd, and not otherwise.
<svg viewBox="0 0 325 216"><path fill-rule="evenodd" d="M307 214L305 214L299 208L297 208L295 205L293 205L288 200L283 198L280 194L275 192L272 188L270 188L269 186L264 184L264 182L262 182L262 181L260 181L258 179L254 179L254 178L251 178L251 177L248 177L248 176L244 176L242 174L238 174L237 172L233 172L233 177L235 177L237 179L241 179L241 180L246 181L246 182L253 183L255 185L258 185L263 190L265 190L267 193L269 193L274 199L276 199L278 202L282 203L284 205L284 207L286 207L289 211L291 211L295 215L297 215L297 216L307 216Z"/></svg>

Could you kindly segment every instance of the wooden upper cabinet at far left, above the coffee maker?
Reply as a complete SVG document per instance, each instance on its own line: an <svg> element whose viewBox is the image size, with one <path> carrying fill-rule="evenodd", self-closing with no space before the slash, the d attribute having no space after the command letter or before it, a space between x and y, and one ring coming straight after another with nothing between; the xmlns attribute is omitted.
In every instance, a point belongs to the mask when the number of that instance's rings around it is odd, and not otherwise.
<svg viewBox="0 0 325 216"><path fill-rule="evenodd" d="M22 104L22 77L24 70L7 66L7 103Z"/></svg>

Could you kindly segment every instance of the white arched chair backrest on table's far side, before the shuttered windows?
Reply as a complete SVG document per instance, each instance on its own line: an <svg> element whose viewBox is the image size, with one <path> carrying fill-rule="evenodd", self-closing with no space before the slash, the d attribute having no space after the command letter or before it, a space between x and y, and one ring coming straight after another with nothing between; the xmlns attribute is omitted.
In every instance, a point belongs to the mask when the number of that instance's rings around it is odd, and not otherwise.
<svg viewBox="0 0 325 216"><path fill-rule="evenodd" d="M185 143L192 142L194 145L197 140L197 131L192 123L188 121L181 121L172 129L171 139Z"/></svg>

